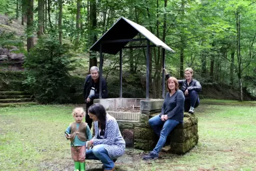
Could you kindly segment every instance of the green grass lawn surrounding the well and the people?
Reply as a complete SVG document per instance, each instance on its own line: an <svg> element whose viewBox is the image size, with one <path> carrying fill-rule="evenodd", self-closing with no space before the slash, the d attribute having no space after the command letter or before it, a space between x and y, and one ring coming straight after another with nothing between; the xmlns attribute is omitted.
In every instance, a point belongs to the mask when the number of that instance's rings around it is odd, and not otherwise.
<svg viewBox="0 0 256 171"><path fill-rule="evenodd" d="M202 100L203 101L203 100ZM210 102L210 100L208 101ZM256 170L256 106L202 104L198 146L184 155L161 153L162 159L141 160L140 150L127 149L116 170ZM0 170L72 170L70 142L64 130L73 121L71 105L0 108ZM101 170L87 161L87 170Z"/></svg>

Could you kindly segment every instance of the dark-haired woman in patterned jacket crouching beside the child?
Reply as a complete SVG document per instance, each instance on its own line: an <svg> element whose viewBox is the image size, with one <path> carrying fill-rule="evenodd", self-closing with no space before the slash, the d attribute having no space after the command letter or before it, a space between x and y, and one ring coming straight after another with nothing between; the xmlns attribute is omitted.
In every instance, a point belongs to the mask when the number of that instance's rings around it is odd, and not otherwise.
<svg viewBox="0 0 256 171"><path fill-rule="evenodd" d="M100 104L91 105L88 115L94 122L95 136L88 141L86 160L100 160L105 170L113 171L114 161L125 151L125 141L116 119L106 114L104 106ZM92 146L93 148L90 149Z"/></svg>

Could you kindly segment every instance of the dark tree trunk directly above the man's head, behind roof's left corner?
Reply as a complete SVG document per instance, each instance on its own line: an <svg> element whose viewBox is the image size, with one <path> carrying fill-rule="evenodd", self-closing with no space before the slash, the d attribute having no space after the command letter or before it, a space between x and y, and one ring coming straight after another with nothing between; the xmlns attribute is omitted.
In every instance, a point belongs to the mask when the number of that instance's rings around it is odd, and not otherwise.
<svg viewBox="0 0 256 171"><path fill-rule="evenodd" d="M90 46L92 46L97 41L96 28L97 28L96 0L91 0L90 1L90 24L89 24ZM96 58L96 53L90 52L89 70L92 66L97 66L97 58Z"/></svg>

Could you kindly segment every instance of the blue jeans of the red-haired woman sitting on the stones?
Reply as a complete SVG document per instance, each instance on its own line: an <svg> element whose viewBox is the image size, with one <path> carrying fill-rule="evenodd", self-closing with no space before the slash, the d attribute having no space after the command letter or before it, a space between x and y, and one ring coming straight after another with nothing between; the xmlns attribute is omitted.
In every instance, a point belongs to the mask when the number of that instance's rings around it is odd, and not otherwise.
<svg viewBox="0 0 256 171"><path fill-rule="evenodd" d="M149 125L153 131L159 136L156 147L153 149L153 153L158 155L160 149L164 146L166 138L170 131L180 122L173 119L167 119L167 121L161 121L160 115L154 116L149 119ZM163 127L163 128L162 128Z"/></svg>

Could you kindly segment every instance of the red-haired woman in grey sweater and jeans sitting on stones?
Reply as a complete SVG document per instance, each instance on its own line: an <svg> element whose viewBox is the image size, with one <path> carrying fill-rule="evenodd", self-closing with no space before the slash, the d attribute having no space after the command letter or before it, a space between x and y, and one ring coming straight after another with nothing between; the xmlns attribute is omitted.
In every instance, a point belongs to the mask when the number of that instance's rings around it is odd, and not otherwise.
<svg viewBox="0 0 256 171"><path fill-rule="evenodd" d="M172 131L178 123L183 122L185 97L183 92L178 90L178 80L173 76L167 80L167 89L168 92L165 96L161 114L149 119L149 125L158 135L159 140L153 151L143 156L143 159L146 160L157 159L159 157L159 151L164 146L170 131Z"/></svg>

